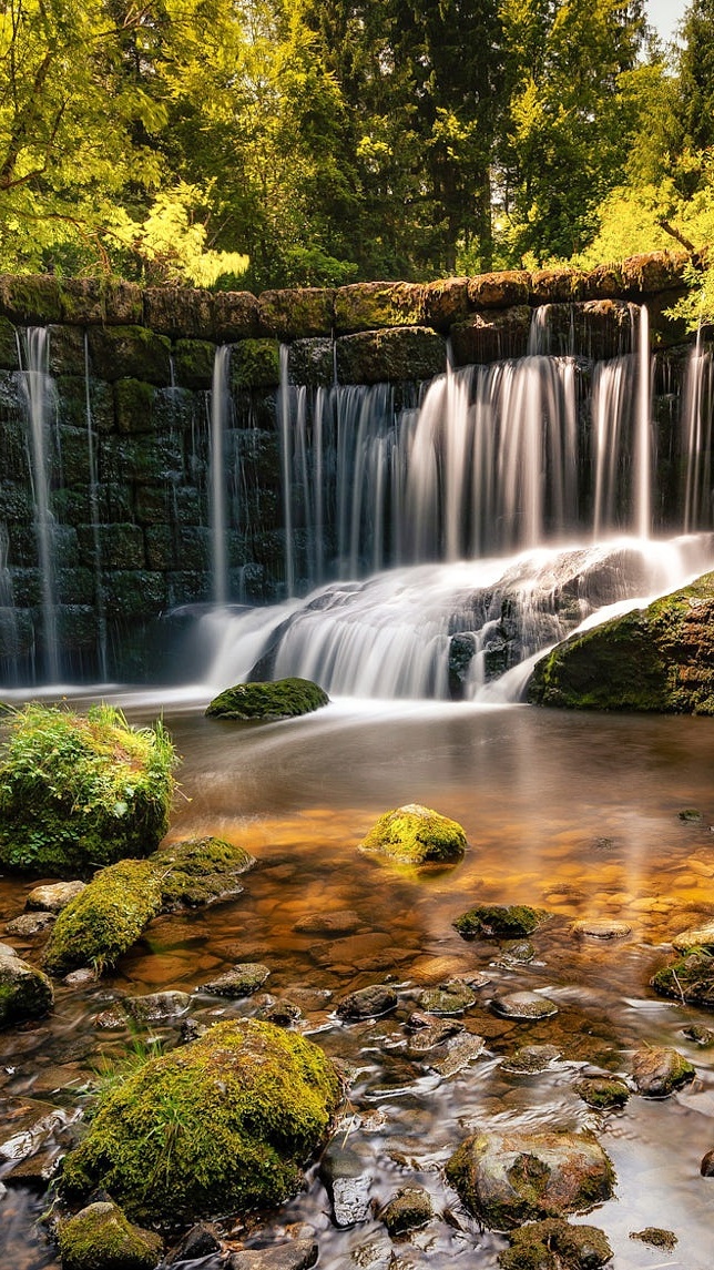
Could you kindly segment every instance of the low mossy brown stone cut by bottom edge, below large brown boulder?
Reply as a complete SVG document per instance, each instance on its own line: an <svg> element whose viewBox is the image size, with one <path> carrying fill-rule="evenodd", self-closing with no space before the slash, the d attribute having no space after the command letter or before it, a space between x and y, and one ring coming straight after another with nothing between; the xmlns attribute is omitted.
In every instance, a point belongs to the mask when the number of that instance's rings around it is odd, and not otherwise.
<svg viewBox="0 0 714 1270"><path fill-rule="evenodd" d="M508 1241L498 1256L502 1270L598 1270L612 1259L603 1231L558 1218L522 1226Z"/></svg>

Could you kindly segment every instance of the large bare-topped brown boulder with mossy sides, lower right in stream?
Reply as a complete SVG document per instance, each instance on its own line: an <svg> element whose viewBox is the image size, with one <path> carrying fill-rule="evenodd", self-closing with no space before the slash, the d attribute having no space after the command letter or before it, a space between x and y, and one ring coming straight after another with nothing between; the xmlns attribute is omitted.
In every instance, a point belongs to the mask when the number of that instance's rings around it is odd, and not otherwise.
<svg viewBox="0 0 714 1270"><path fill-rule="evenodd" d="M587 1133L475 1133L451 1156L446 1176L484 1226L587 1213L610 1199L612 1165Z"/></svg>

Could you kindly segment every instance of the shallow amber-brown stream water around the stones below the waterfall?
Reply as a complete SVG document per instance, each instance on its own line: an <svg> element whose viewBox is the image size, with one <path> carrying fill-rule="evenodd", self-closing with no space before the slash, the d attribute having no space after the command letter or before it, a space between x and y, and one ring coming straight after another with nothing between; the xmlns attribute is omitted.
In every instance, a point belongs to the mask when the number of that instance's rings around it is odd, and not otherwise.
<svg viewBox="0 0 714 1270"><path fill-rule="evenodd" d="M137 721L152 712L146 702L130 709ZM179 704L166 721L184 756L172 839L220 833L248 846L260 866L235 902L156 919L112 978L61 987L51 1020L3 1034L8 1107L27 1096L76 1105L98 1050L109 1058L126 1050L125 1030L95 1022L118 994L193 989L236 960L260 960L271 969L271 993L297 1001L307 1031L358 1071L342 1132L371 1173L376 1199L423 1185L442 1214L398 1248L400 1265L441 1270L460 1255L465 1265L495 1266L503 1238L465 1217L441 1166L476 1123L546 1123L595 1128L614 1158L616 1198L591 1220L607 1232L616 1267L662 1260L629 1240L645 1226L678 1236L667 1265L710 1266L714 1181L700 1176L699 1163L714 1146L714 1050L681 1029L714 1020L654 998L648 980L667 955L661 945L714 913L714 724L394 702L340 702L263 726L207 720ZM461 865L418 878L358 852L381 812L410 801L461 822L470 842ZM682 820L684 809L701 818ZM30 885L0 883L6 916L22 911ZM553 914L534 936L530 964L457 936L454 918L476 900L527 902ZM300 918L340 909L358 916L348 933L296 930ZM569 925L581 917L625 918L633 933L617 944L578 941ZM487 1048L442 1080L408 1050L410 992L476 970L490 982L464 1022ZM335 1019L343 994L387 977L400 996L395 1016L351 1025ZM521 1024L489 1012L498 991L521 988L542 991L559 1013ZM199 996L192 1013L255 1008L254 999ZM168 1043L177 1038L172 1029L159 1033ZM556 1045L562 1060L535 1076L504 1071L501 1058L531 1043ZM626 1071L628 1052L648 1043L686 1053L697 1082L664 1102L633 1097L617 1113L593 1113L577 1097L573 1081L584 1064ZM17 1185L1 1200L8 1265L56 1265L42 1238L28 1234L42 1204ZM334 1227L316 1177L276 1219L253 1223L248 1237L273 1238L295 1222L318 1231L320 1266L349 1266L352 1252L371 1241L374 1259L363 1264L382 1264L384 1227L372 1218Z"/></svg>

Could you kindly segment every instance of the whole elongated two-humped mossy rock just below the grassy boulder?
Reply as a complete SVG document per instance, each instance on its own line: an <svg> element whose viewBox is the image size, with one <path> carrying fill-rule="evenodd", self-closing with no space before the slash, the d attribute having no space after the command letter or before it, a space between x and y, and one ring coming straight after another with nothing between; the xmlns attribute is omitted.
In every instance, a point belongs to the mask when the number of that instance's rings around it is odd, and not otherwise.
<svg viewBox="0 0 714 1270"><path fill-rule="evenodd" d="M44 950L55 975L77 966L114 965L159 913L198 908L243 889L238 878L255 860L222 838L193 838L100 869L58 914Z"/></svg>

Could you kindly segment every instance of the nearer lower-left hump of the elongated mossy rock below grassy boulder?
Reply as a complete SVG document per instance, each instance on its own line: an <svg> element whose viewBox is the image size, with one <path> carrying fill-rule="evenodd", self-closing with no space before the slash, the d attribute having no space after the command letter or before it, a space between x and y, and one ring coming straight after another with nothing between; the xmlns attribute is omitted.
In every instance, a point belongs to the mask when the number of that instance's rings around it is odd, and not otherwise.
<svg viewBox="0 0 714 1270"><path fill-rule="evenodd" d="M160 908L160 880L147 860L103 869L58 914L44 950L47 970L60 975L114 965Z"/></svg>

